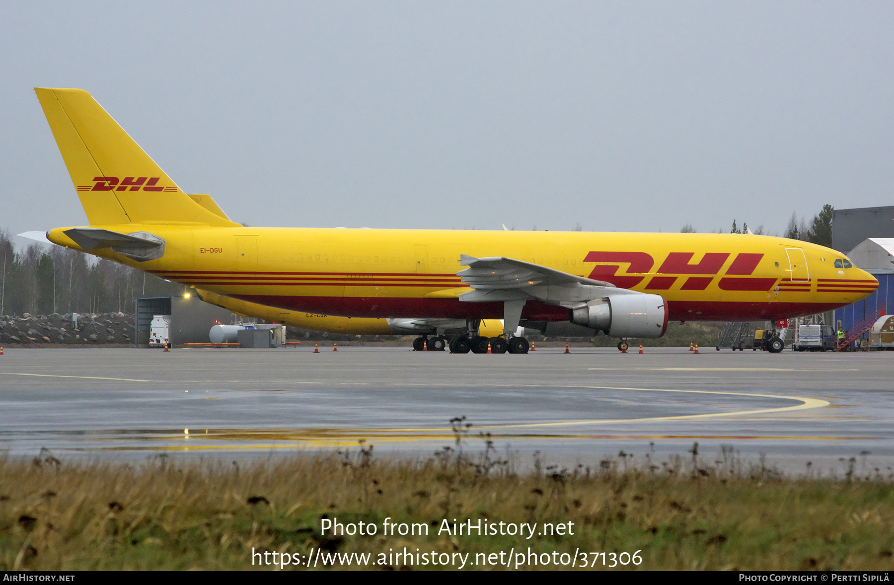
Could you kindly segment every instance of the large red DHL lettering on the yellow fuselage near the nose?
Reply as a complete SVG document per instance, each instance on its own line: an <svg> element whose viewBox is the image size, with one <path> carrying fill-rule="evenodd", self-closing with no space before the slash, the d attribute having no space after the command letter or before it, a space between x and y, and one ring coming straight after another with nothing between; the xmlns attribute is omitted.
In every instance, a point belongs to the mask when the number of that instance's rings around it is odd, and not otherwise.
<svg viewBox="0 0 894 585"><path fill-rule="evenodd" d="M730 258L729 252L707 252L696 264L691 264L695 252L671 252L662 265L654 272L657 275L711 275L687 276L680 286L681 291L704 291L712 283L714 276L720 274L721 267ZM769 291L776 284L776 278L746 278L754 274L755 268L763 258L763 253L741 253L733 259L718 286L722 291ZM652 272L655 260L645 252L593 251L586 255L585 262L604 262L597 264L590 273L590 278L603 280L621 288L633 288L645 280ZM619 264L607 264L617 262ZM628 264L627 275L618 275L620 263ZM728 277L730 276L730 277ZM652 276L645 285L646 291L667 291L681 276Z"/></svg>

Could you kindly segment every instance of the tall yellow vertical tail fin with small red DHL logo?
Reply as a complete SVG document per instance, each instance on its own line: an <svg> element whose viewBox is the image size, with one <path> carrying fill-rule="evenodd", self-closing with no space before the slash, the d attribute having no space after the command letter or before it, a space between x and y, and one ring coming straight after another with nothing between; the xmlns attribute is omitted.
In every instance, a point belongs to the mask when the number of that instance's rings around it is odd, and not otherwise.
<svg viewBox="0 0 894 585"><path fill-rule="evenodd" d="M90 225L238 225L181 191L88 92L34 91Z"/></svg>

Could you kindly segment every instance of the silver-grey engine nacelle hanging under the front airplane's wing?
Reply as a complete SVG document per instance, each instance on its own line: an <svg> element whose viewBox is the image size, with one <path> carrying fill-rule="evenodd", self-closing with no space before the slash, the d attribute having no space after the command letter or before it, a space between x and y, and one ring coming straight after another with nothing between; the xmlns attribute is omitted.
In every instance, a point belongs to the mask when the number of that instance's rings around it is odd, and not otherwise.
<svg viewBox="0 0 894 585"><path fill-rule="evenodd" d="M668 306L660 294L613 294L571 309L571 322L611 337L661 337Z"/></svg>

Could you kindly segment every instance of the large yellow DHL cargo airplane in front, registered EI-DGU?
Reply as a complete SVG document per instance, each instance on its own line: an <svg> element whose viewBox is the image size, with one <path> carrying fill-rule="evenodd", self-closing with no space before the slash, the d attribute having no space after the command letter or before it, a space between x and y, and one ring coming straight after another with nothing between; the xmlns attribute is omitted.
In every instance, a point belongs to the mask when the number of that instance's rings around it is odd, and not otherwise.
<svg viewBox="0 0 894 585"><path fill-rule="evenodd" d="M492 342L521 353L522 319L660 337L671 319L793 318L878 287L835 250L750 234L244 227L181 191L86 91L35 91L89 222L51 242L269 307L461 319L455 352L480 319L502 318Z"/></svg>

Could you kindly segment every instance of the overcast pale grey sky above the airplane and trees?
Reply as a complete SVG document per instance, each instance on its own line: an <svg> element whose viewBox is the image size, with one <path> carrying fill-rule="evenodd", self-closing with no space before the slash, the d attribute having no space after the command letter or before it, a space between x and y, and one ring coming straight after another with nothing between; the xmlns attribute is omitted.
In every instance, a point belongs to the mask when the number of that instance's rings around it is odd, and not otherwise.
<svg viewBox="0 0 894 585"><path fill-rule="evenodd" d="M894 205L891 2L0 4L0 228L82 225L35 86L250 225L678 231Z"/></svg>

